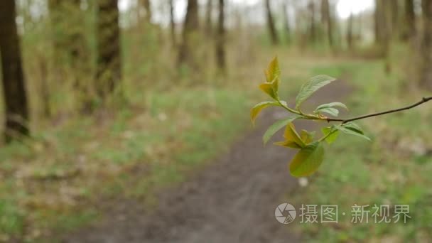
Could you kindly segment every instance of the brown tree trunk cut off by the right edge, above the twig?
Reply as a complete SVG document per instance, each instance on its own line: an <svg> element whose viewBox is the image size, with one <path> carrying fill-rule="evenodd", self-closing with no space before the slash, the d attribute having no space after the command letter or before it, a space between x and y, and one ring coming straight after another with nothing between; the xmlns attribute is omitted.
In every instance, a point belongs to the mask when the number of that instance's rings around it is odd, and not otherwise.
<svg viewBox="0 0 432 243"><path fill-rule="evenodd" d="M421 2L423 39L421 43L421 86L432 90L432 0Z"/></svg>

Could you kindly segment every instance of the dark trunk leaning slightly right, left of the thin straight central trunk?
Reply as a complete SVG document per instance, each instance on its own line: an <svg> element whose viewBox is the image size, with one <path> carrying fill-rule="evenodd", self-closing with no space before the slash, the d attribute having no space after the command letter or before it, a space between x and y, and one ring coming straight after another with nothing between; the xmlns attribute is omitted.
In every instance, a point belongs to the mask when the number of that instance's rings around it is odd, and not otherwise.
<svg viewBox="0 0 432 243"><path fill-rule="evenodd" d="M183 26L183 42L180 45L178 54L178 65L193 64L190 45L193 45L193 35L198 31L198 28L198 0L188 0Z"/></svg>

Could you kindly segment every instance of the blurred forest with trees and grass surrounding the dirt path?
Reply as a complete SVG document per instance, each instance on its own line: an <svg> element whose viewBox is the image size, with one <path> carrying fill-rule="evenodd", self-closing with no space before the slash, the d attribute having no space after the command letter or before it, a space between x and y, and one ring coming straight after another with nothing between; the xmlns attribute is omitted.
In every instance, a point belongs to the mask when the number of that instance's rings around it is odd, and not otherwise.
<svg viewBox="0 0 432 243"><path fill-rule="evenodd" d="M32 242L85 225L102 200L157 204L226 151L275 55L288 100L318 74L351 87L352 114L430 95L432 0L2 0L0 50L0 241ZM296 194L406 203L410 222L298 231L431 242L431 121L428 104L364 121L374 142L337 144Z"/></svg>

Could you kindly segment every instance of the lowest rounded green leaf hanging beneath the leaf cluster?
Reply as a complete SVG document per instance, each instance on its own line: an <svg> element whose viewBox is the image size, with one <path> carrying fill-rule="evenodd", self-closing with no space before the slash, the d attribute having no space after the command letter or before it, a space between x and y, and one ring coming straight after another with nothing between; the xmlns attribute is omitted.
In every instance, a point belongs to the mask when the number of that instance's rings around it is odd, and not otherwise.
<svg viewBox="0 0 432 243"><path fill-rule="evenodd" d="M308 176L313 174L324 159L324 148L317 141L312 144L308 144L298 151L296 156L289 165L289 171L291 175L295 177Z"/></svg>

